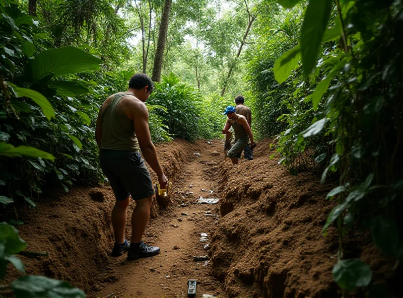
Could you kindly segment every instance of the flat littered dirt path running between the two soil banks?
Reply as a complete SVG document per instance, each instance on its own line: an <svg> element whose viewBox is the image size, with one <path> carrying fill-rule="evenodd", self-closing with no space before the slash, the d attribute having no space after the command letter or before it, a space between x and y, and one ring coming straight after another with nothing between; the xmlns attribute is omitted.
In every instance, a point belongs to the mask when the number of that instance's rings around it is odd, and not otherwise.
<svg viewBox="0 0 403 298"><path fill-rule="evenodd" d="M208 254L203 248L209 242L201 243L200 234L207 233L210 241L210 231L219 221L209 214L217 214L218 205L195 204L199 196L219 197L218 184L206 172L222 161L222 154L211 154L220 151L221 146L205 143L203 147L200 157L178 175L173 186L175 203L147 227L145 242L158 245L161 254L135 261L125 256L113 259L118 280L107 284L96 297L186 297L188 279L197 279L197 297L220 293L219 283L209 275L210 262L193 261L193 256ZM182 207L181 203L188 206Z"/></svg>

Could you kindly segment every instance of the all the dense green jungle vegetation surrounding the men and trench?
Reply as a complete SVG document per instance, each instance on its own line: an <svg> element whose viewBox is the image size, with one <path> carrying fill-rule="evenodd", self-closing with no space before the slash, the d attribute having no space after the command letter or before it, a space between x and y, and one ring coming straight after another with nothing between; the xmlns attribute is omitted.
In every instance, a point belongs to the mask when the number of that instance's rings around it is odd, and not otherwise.
<svg viewBox="0 0 403 298"><path fill-rule="evenodd" d="M224 107L244 95L273 158L339 184L323 198L338 202L323 227L340 235L335 282L388 296L343 239L369 231L392 270L403 259L401 0L0 0L0 25L1 210L102 181L98 109L145 72L154 142L221 137ZM8 263L24 270L21 224L0 225L0 278ZM44 277L11 287L84 296Z"/></svg>

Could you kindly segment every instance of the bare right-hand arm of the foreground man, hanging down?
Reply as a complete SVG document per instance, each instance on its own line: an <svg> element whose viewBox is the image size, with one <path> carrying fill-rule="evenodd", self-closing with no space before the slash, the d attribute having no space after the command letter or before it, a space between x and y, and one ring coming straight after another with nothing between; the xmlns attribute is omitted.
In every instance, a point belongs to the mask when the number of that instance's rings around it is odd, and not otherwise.
<svg viewBox="0 0 403 298"><path fill-rule="evenodd" d="M150 129L148 126L148 109L143 103L136 103L133 105L135 105L132 112L133 123L135 125L135 131L137 139L139 140L140 149L143 153L144 159L157 174L158 180L161 184L161 178L164 176L164 172L162 171L160 162L158 161L157 151L155 150L155 146L151 140ZM161 188L165 187L166 185L161 185Z"/></svg>

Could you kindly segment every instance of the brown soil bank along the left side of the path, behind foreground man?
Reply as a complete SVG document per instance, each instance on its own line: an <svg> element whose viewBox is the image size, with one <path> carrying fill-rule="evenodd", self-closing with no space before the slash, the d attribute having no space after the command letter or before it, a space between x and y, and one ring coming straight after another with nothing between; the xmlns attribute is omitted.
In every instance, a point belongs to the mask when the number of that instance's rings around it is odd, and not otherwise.
<svg viewBox="0 0 403 298"><path fill-rule="evenodd" d="M198 147L198 143L184 140L157 145L161 165L170 181L180 173L182 163L195 158ZM155 182L154 172L150 170L150 173ZM109 185L103 185L45 194L37 201L35 209L16 206L18 219L24 222L19 230L28 244L27 250L49 253L43 258L22 256L27 274L67 280L87 293L99 291L105 282L115 281L116 272L109 257L114 241L110 222L114 200ZM168 203L165 202L163 208ZM134 206L132 202L129 208ZM151 216L155 218L163 208L154 201ZM0 220L17 219L14 217L11 212L1 215ZM129 235L128 228L126 234ZM6 282L18 276L11 266L9 273Z"/></svg>

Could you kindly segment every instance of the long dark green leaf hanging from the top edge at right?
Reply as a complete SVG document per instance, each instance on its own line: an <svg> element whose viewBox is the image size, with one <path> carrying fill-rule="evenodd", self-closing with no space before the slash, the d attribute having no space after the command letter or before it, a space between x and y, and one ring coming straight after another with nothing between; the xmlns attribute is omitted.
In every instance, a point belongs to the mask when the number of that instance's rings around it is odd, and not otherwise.
<svg viewBox="0 0 403 298"><path fill-rule="evenodd" d="M309 75L316 66L331 7L331 0L309 0L301 29L302 68L305 75Z"/></svg>

